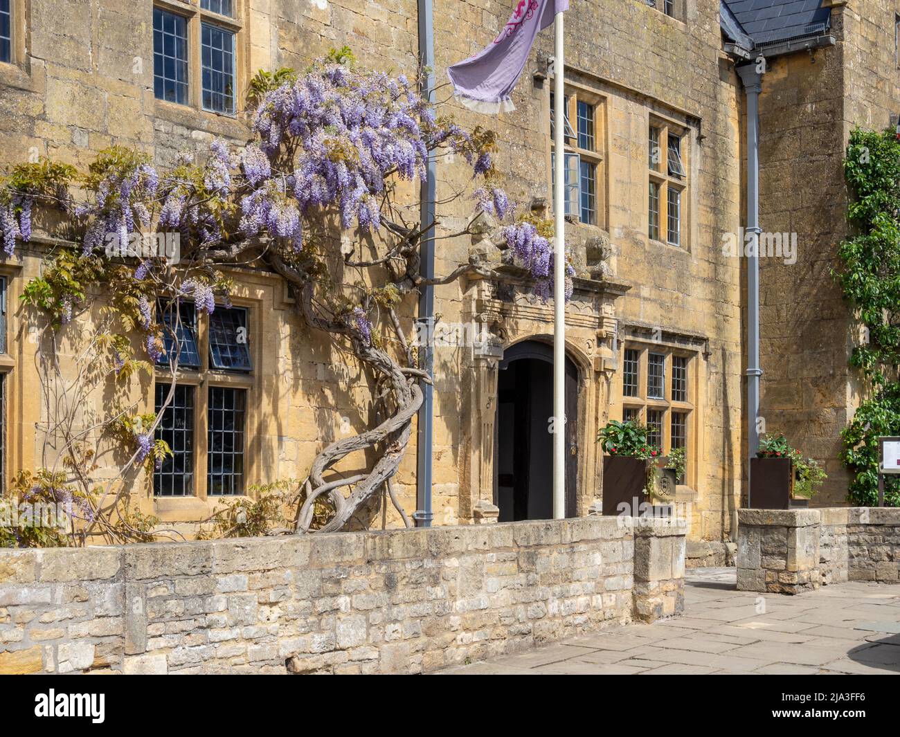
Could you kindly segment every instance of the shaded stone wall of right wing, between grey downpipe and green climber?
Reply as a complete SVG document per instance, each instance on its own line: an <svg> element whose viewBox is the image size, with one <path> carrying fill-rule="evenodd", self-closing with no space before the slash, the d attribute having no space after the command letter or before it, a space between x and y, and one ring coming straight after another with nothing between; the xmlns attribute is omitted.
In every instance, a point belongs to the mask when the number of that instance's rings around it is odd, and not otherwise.
<svg viewBox="0 0 900 737"><path fill-rule="evenodd" d="M896 0L824 0L834 44L768 59L760 95L760 221L796 233L797 263L761 258L760 413L828 473L816 507L846 502L840 433L865 388L848 361L860 327L830 275L847 234L851 130L896 121Z"/></svg>

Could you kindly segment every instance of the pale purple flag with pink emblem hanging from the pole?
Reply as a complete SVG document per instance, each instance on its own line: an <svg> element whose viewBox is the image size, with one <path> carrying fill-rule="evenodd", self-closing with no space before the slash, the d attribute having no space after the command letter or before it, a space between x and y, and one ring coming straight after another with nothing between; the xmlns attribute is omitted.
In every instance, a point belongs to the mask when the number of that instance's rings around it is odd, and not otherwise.
<svg viewBox="0 0 900 737"><path fill-rule="evenodd" d="M447 67L456 99L478 112L515 110L510 94L528 60L538 31L569 9L569 0L518 0L516 10L491 45Z"/></svg>

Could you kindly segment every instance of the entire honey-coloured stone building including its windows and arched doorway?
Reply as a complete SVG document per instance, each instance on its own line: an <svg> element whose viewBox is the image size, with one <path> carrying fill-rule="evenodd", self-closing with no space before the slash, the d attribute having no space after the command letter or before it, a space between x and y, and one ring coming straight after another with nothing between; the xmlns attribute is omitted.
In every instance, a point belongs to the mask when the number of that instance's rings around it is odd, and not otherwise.
<svg viewBox="0 0 900 737"><path fill-rule="evenodd" d="M542 34L528 60L513 112L469 111L446 85L446 67L500 31L506 0L0 0L0 163L47 156L84 168L117 144L166 166L179 151L202 154L215 138L239 147L251 137L244 96L257 70L302 69L346 45L360 64L415 76L425 6L438 98L464 125L497 131L510 199L520 211L549 214L552 34ZM723 563L734 550L747 456L747 259L723 244L746 224L749 86L738 69L748 65L761 67L753 83L761 229L797 244L793 263L761 258L760 414L824 462L824 502L843 501L839 434L860 388L847 364L852 316L829 269L846 232L850 130L884 128L896 112L898 13L898 0L572 0L569 516L589 514L602 497L599 428L636 418L664 453L686 448L676 501L689 518L689 565ZM463 162L442 158L437 202L467 176ZM438 204L437 235L453 232L468 211L471 202ZM488 250L491 237L486 223L472 238L439 239L437 274ZM52 460L41 435L51 410L35 362L36 326L19 300L52 245L38 229L0 263L5 481ZM188 534L223 497L302 478L324 445L371 419L359 367L302 326L281 279L233 275L233 308L198 318L195 365L178 377L178 465L166 467L165 479L133 480L145 513ZM405 310L414 317L416 305ZM490 340L434 349L425 459L433 524L549 517L552 302L496 262L490 275L438 286L435 313L436 330L465 334L457 328L475 325ZM234 371L219 360L215 336L238 324L248 342ZM171 381L159 369L133 399L153 411ZM84 421L102 409L85 408ZM228 454L213 454L224 415L239 438ZM410 515L427 511L417 499L419 452L414 433L395 479ZM116 472L112 461L97 470L101 479ZM384 507L358 524L400 525Z"/></svg>

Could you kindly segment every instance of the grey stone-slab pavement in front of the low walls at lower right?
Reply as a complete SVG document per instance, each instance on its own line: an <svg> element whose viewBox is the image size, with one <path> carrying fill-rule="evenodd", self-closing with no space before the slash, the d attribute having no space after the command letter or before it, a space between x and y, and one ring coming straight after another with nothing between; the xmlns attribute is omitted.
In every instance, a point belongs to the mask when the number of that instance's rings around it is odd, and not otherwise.
<svg viewBox="0 0 900 737"><path fill-rule="evenodd" d="M900 674L900 585L797 596L738 591L734 568L687 571L683 616L624 625L445 674Z"/></svg>

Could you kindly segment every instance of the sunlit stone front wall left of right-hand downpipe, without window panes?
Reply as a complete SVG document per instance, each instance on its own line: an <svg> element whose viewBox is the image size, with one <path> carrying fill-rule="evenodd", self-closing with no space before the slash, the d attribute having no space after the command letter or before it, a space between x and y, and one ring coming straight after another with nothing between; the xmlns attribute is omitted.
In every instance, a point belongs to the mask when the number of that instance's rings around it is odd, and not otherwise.
<svg viewBox="0 0 900 737"><path fill-rule="evenodd" d="M164 4L192 23L200 17L193 0ZM147 151L165 165L177 150L202 152L214 137L236 144L248 138L241 108L229 117L202 111L193 97L186 105L154 98L152 4L81 0L60 11L49 0L16 0L14 7L20 6L29 13L14 14L14 23L22 25L15 26L16 33L28 42L17 47L14 64L0 64L0 163L48 155L85 166L98 150L121 144ZM415 0L240 0L235 8L232 26L242 90L259 68L302 68L344 44L362 64L410 76L415 72ZM508 13L505 3L437 0L438 79L445 78L449 63L491 40ZM680 407L687 417L689 464L680 500L689 513L691 539L706 541L722 557L742 476L740 268L710 244L740 220L741 139L740 88L720 56L717 19L717 0L691 0L677 19L637 0L572 6L568 76L572 91L595 105L598 164L596 224L576 221L569 229L579 276L568 309L567 346L578 370L574 512L586 514L602 493L602 457L595 438L599 427L624 411L624 349L633 347L644 356L642 384L649 351L660 351L670 361L671 355L679 355L689 361L688 395ZM551 49L552 34L542 34L516 90L515 112L486 118L448 103L465 125L497 130L497 164L511 198L525 210L544 212L550 201L551 85L541 76L546 76ZM193 87L191 94L196 94ZM687 175L680 247L647 233L647 133L652 122L682 135ZM445 200L465 176L462 162L443 158L438 200ZM442 232L470 210L471 202L442 205ZM441 241L437 273L464 263L473 249L483 247L481 238ZM8 360L0 361L0 370L8 372L6 475L35 469L47 450L34 430L46 419L41 417L40 393L31 391L39 383L28 340L34 323L18 302L24 283L40 271L42 246L40 238L35 240L34 249L0 265L0 273L9 277L11 306ZM324 445L366 427L370 394L358 366L347 364L322 337L302 328L279 280L256 272L235 276L234 302L251 310L256 369L242 380L202 372L185 381L198 387L236 385L250 392L247 486L302 477ZM502 270L490 279L438 287L436 300L436 312L446 324L482 324L501 349L524 340L548 342L553 332L552 305L536 300L521 280ZM408 305L404 318L414 309ZM438 349L435 365L435 523L470 524L479 519L478 509L497 503L500 355ZM143 382L133 390L132 398L145 403L141 409L152 409L152 384ZM198 392L200 417L204 396ZM653 402L639 404L645 420ZM674 410L667 404L662 411L662 445L668 447L669 413ZM205 488L202 436L201 428L193 496L154 499L143 475L130 480L140 508L185 535L192 534L191 523L217 506ZM395 480L408 512L416 508L415 438L413 433ZM97 475L108 480L116 472L111 463ZM401 521L387 505L371 510L371 518L360 524L381 520L386 526Z"/></svg>

